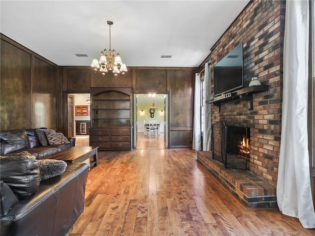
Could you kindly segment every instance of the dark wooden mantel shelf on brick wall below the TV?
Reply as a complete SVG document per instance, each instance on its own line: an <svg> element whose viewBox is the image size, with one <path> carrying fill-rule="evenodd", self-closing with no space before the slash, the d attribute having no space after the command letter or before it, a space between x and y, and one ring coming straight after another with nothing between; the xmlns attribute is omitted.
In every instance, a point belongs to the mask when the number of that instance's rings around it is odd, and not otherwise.
<svg viewBox="0 0 315 236"><path fill-rule="evenodd" d="M246 87L246 88L229 92L227 94L223 94L219 97L211 97L211 99L207 100L206 103L213 103L214 105L219 106L219 111L220 111L221 102L235 99L235 98L241 98L241 99L247 100L248 109L252 110L252 94L267 91L268 88L269 88L268 85Z"/></svg>

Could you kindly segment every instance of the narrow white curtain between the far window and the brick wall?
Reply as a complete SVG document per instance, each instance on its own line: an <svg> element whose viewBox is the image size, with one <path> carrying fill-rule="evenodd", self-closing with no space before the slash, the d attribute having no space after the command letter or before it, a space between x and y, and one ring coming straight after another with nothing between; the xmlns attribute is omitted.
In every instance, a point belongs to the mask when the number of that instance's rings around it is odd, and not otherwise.
<svg viewBox="0 0 315 236"><path fill-rule="evenodd" d="M211 65L210 63L205 64L205 90L206 90L206 101L210 100L211 97ZM205 131L203 133L203 150L211 150L211 104L205 104Z"/></svg>

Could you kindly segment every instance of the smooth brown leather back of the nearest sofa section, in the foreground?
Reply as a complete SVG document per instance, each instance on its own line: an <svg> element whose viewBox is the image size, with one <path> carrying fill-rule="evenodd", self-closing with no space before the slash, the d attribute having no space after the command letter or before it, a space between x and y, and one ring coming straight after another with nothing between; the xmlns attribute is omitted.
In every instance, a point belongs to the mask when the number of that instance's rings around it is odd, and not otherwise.
<svg viewBox="0 0 315 236"><path fill-rule="evenodd" d="M40 181L34 194L17 203L1 181L0 235L64 236L83 212L88 172L85 163L68 164L62 175Z"/></svg>

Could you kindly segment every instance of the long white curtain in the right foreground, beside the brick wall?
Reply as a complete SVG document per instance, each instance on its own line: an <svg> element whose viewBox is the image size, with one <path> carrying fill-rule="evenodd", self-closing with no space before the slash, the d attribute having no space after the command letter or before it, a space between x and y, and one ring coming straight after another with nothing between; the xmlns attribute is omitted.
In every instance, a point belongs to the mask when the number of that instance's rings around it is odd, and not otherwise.
<svg viewBox="0 0 315 236"><path fill-rule="evenodd" d="M286 1L284 85L277 202L285 215L315 228L308 130L309 1Z"/></svg>

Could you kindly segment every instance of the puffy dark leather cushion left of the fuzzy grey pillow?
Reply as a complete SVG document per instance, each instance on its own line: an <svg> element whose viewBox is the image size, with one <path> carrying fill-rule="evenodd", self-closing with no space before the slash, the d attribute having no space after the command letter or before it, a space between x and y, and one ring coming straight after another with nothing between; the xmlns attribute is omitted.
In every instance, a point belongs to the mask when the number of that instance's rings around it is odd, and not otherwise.
<svg viewBox="0 0 315 236"><path fill-rule="evenodd" d="M10 187L19 200L30 197L40 183L36 159L30 153L1 156L0 180Z"/></svg>

